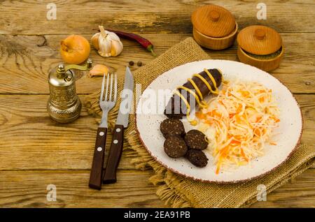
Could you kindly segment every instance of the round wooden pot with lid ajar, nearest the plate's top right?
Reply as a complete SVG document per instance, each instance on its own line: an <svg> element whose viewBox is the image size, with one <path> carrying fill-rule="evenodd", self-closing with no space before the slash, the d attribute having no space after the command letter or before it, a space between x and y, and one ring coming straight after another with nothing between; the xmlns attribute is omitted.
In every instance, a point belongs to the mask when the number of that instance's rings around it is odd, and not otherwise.
<svg viewBox="0 0 315 222"><path fill-rule="evenodd" d="M281 36L274 29L253 25L239 31L237 36L239 61L263 71L279 67L284 47Z"/></svg>

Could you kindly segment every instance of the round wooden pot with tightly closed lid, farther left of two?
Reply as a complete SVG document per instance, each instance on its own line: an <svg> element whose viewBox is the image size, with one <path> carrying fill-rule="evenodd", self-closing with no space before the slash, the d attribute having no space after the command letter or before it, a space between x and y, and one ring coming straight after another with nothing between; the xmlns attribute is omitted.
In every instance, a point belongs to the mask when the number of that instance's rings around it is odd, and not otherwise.
<svg viewBox="0 0 315 222"><path fill-rule="evenodd" d="M223 50L235 42L238 25L235 17L221 6L206 5L197 8L191 16L193 37L211 50Z"/></svg>

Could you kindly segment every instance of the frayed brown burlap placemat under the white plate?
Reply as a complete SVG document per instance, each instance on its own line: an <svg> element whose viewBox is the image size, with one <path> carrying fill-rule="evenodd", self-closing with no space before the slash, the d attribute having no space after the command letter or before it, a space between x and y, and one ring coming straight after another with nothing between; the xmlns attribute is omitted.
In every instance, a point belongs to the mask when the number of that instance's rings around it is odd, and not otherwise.
<svg viewBox="0 0 315 222"><path fill-rule="evenodd" d="M134 83L146 89L158 75L171 68L190 61L209 59L209 55L200 48L193 38L187 38L174 45L157 59L134 71ZM119 81L119 90L123 89L123 77ZM109 115L109 126L113 126L118 112L116 107ZM99 91L91 94L85 101L87 110L100 117ZM130 151L131 150L131 151ZM205 184L186 179L167 170L156 162L141 145L135 131L134 114L125 133L124 152L131 156L137 168L153 168L155 174L148 178L158 187L156 194L172 207L248 207L257 201L258 185L265 185L267 193L285 184L314 163L315 151L307 145L300 145L286 163L264 177L237 184Z"/></svg>

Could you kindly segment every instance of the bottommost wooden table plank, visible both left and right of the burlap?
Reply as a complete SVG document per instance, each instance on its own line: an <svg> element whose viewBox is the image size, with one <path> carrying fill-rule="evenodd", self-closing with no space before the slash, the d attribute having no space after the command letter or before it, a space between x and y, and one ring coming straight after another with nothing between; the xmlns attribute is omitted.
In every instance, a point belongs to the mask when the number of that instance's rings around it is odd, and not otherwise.
<svg viewBox="0 0 315 222"><path fill-rule="evenodd" d="M116 184L102 191L87 188L85 170L2 171L0 207L167 207L148 183L151 171L119 170ZM267 202L252 207L315 207L315 170L306 170L293 182L267 195ZM57 188L57 201L46 199L49 184Z"/></svg>

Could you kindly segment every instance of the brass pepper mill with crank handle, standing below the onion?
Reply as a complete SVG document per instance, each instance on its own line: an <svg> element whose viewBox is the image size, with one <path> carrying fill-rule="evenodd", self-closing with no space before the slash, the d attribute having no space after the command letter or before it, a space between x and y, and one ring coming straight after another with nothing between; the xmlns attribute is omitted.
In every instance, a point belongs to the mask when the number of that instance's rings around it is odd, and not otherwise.
<svg viewBox="0 0 315 222"><path fill-rule="evenodd" d="M92 60L83 66L59 64L48 76L50 98L47 110L50 117L60 123L69 123L80 116L81 102L76 94L76 76L73 69L87 71L92 68Z"/></svg>

